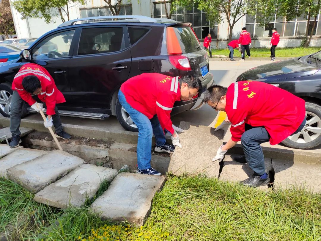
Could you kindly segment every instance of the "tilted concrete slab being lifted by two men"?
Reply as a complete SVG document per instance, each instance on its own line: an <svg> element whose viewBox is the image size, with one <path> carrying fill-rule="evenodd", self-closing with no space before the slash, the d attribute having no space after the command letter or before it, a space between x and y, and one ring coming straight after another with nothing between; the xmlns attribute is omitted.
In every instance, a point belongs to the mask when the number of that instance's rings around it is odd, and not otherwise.
<svg viewBox="0 0 321 241"><path fill-rule="evenodd" d="M220 165L212 159L223 144L224 130L214 131L214 128L185 121L180 123L180 128L185 131L179 134L183 148L175 148L168 171L174 175L203 173L208 177L218 177Z"/></svg>

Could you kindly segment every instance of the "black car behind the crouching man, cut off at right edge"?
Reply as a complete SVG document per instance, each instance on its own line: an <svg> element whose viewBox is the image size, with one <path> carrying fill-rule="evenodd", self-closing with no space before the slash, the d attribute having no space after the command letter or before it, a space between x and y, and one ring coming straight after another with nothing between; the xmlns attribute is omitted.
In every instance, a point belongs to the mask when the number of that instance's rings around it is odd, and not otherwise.
<svg viewBox="0 0 321 241"><path fill-rule="evenodd" d="M321 51L252 68L237 81L256 80L269 83L306 102L307 124L298 134L282 143L297 149L311 149L321 144ZM285 100L286 101L286 100Z"/></svg>

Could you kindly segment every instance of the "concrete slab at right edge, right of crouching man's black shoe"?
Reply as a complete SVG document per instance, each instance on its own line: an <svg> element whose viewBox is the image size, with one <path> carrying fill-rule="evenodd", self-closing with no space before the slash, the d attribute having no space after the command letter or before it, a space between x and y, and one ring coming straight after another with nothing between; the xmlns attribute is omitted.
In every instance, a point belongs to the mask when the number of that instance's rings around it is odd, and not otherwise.
<svg viewBox="0 0 321 241"><path fill-rule="evenodd" d="M301 187L321 192L321 167L300 162L273 159L274 188Z"/></svg>

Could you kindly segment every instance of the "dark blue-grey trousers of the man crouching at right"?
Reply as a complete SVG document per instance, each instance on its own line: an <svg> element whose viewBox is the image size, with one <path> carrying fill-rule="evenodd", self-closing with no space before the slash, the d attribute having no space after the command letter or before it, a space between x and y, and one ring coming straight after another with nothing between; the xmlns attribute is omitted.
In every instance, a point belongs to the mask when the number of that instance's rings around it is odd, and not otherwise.
<svg viewBox="0 0 321 241"><path fill-rule="evenodd" d="M306 119L302 121L299 128L292 134L299 133L305 126ZM260 144L268 142L270 136L264 127L251 127L246 125L245 132L241 136L241 144L243 147L245 158L249 167L256 175L265 174L265 164L263 150Z"/></svg>

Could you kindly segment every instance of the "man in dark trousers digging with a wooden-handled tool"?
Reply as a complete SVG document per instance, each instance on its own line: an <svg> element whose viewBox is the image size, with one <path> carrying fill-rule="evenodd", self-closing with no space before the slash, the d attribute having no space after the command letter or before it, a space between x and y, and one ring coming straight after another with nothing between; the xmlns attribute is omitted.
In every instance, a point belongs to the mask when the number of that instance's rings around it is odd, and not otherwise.
<svg viewBox="0 0 321 241"><path fill-rule="evenodd" d="M42 103L37 103L32 96L37 95L39 100L46 104L47 121L44 125L46 128L55 126L56 137L64 140L70 139L71 136L63 131L60 116L56 104L64 103L65 97L57 89L54 79L48 71L37 64L25 64L13 78L12 83L12 101L10 109L10 131L12 140L10 147L18 147L21 132L19 130L21 121L21 112L23 101L27 102L33 109L40 111L43 109Z"/></svg>

